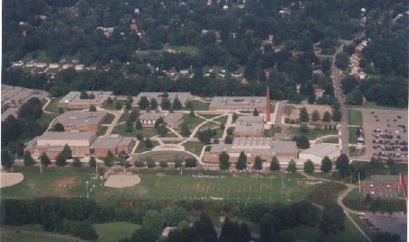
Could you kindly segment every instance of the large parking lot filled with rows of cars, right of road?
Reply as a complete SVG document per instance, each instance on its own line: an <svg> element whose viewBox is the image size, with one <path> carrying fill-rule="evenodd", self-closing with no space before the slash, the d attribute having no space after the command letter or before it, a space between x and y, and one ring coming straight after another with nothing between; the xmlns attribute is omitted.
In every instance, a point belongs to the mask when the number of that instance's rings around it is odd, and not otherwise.
<svg viewBox="0 0 409 242"><path fill-rule="evenodd" d="M366 158L392 157L407 162L407 111L361 109L366 139Z"/></svg>

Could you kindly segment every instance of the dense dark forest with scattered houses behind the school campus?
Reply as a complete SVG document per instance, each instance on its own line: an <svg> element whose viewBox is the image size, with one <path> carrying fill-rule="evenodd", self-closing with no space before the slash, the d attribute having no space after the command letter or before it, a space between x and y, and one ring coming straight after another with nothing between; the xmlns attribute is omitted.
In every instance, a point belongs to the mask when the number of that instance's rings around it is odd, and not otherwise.
<svg viewBox="0 0 409 242"><path fill-rule="evenodd" d="M342 40L368 39L361 66L377 88L365 94L380 104L407 105L407 94L394 99L379 94L392 83L407 86L408 5L402 1L124 1L14 0L3 8L3 76L5 83L49 90L191 91L200 95L264 94L272 99L300 101L314 96L314 85L332 96L331 54ZM361 23L362 8L366 24ZM387 10L387 11L386 11ZM401 13L402 16L396 16ZM397 19L396 19L397 18ZM110 31L107 29L112 28ZM269 39L271 37L271 40ZM269 41L268 41L269 40ZM314 43L321 54L314 54ZM162 51L172 47L190 50ZM136 54L136 50L150 50ZM49 62L76 58L89 71L27 76L6 69L12 61L41 56ZM206 67L240 71L231 77L205 76ZM169 69L190 69L193 78L177 81L164 76ZM313 76L313 70L323 75ZM266 75L268 72L268 75ZM381 76L380 76L381 75ZM396 80L385 83L384 78ZM296 86L300 85L300 94ZM403 86L403 87L404 87ZM364 92L367 85L359 85ZM166 90L163 90L165 88ZM407 88L402 88L407 89ZM395 98L395 99L396 99ZM386 101L385 101L386 100ZM326 103L326 102L321 102Z"/></svg>

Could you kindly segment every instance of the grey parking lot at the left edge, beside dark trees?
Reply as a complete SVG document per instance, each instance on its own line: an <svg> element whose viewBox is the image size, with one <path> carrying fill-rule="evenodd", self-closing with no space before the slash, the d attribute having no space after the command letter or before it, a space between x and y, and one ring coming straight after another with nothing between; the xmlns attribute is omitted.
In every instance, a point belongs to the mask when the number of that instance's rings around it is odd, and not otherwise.
<svg viewBox="0 0 409 242"><path fill-rule="evenodd" d="M41 90L2 85L2 121L10 114L16 117L20 106L30 98L38 97L41 100L48 95L47 92ZM5 112L3 112L3 110L5 110Z"/></svg>

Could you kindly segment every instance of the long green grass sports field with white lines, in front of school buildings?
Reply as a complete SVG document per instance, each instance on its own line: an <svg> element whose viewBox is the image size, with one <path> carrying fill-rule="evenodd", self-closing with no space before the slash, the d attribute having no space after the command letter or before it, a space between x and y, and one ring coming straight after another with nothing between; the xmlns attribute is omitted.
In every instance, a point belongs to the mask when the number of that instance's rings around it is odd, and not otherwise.
<svg viewBox="0 0 409 242"><path fill-rule="evenodd" d="M286 175L140 175L141 183L127 188L105 187L92 173L25 171L20 184L1 189L3 198L39 196L86 196L96 202L114 203L138 199L204 200L229 202L291 202L300 201L319 185L303 178Z"/></svg>

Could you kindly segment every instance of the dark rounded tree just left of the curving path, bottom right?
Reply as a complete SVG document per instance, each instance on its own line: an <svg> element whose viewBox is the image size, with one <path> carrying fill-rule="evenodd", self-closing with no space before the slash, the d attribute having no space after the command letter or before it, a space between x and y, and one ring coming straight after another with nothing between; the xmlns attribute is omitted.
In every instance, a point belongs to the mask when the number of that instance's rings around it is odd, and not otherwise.
<svg viewBox="0 0 409 242"><path fill-rule="evenodd" d="M337 234L345 230L345 213L340 205L335 203L327 204L323 208L320 227L326 234Z"/></svg>

